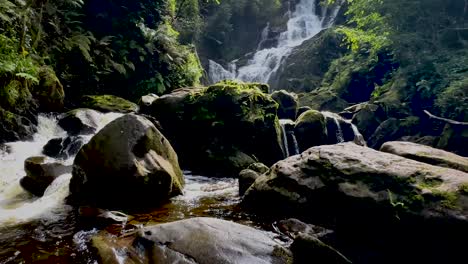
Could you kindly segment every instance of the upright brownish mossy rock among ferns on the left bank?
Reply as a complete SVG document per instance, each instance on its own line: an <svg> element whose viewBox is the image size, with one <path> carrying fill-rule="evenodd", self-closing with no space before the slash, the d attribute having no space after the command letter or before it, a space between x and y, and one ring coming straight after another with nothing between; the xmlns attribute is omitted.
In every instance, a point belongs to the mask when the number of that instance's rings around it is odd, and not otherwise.
<svg viewBox="0 0 468 264"><path fill-rule="evenodd" d="M39 84L31 87L41 112L61 112L64 107L63 85L52 68L43 66L39 70Z"/></svg>

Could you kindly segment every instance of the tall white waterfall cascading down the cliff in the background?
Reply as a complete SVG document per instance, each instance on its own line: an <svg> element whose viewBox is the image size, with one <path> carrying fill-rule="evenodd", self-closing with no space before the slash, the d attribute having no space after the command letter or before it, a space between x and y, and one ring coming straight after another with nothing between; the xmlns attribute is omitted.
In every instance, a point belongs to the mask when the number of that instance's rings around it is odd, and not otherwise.
<svg viewBox="0 0 468 264"><path fill-rule="evenodd" d="M229 69L226 70L220 64L210 60L209 76L211 81L216 83L224 79L237 79L245 82L268 83L271 76L278 71L281 63L295 47L333 24L340 8L339 5L333 7L331 12L324 10L323 14L325 15L319 17L316 12L316 2L317 0L301 0L290 15L287 30L280 34L277 46L257 50L245 66L238 69L229 66ZM268 27L265 30L268 30ZM268 36L268 32L263 32L262 39L266 36ZM261 47L261 44L259 43L258 47ZM233 63L235 64L235 62Z"/></svg>

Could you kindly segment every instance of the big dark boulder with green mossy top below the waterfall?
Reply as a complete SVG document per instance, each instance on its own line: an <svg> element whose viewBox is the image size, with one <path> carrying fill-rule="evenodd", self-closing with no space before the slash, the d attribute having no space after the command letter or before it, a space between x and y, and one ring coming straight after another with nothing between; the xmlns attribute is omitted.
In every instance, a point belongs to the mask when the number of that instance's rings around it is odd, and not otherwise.
<svg viewBox="0 0 468 264"><path fill-rule="evenodd" d="M164 95L153 102L150 114L160 121L183 165L208 172L213 170L207 161L216 156L237 162L238 158L230 157L243 153L250 161L266 164L282 159L277 107L256 84L222 82ZM239 172L222 173L237 176Z"/></svg>

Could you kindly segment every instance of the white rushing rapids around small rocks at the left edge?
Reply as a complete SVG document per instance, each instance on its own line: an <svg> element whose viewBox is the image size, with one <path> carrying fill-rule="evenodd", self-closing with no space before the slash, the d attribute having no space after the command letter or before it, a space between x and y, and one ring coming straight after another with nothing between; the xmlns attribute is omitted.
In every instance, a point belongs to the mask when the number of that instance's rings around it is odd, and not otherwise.
<svg viewBox="0 0 468 264"><path fill-rule="evenodd" d="M99 114L96 117L98 131L121 114ZM57 124L53 116L38 117L38 131L32 141L19 141L5 144L9 153L0 152L0 227L25 223L34 219L53 219L66 208L64 199L68 196L68 185L71 174L63 174L47 188L42 197L34 197L26 192L19 181L26 175L24 161L32 156L42 155L43 146L53 138L65 137L67 134ZM92 135L84 137L85 143ZM70 165L71 157L61 161Z"/></svg>

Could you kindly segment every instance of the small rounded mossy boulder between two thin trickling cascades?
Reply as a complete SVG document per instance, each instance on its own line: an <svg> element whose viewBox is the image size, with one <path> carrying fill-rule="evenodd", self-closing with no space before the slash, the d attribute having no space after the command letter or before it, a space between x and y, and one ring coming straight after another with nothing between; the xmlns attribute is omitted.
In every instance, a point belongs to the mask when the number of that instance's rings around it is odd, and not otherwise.
<svg viewBox="0 0 468 264"><path fill-rule="evenodd" d="M316 110L304 112L297 118L294 133L300 152L313 146L326 144L328 134L325 116Z"/></svg>

